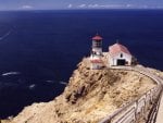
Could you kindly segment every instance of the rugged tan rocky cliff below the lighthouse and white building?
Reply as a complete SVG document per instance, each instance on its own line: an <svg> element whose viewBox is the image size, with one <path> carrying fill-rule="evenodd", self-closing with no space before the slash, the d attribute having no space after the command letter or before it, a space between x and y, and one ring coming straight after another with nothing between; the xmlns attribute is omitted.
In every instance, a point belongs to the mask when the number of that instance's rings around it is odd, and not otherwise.
<svg viewBox="0 0 163 123"><path fill-rule="evenodd" d="M84 59L64 93L25 108L10 123L97 123L154 87L152 79L123 70L89 70Z"/></svg>

